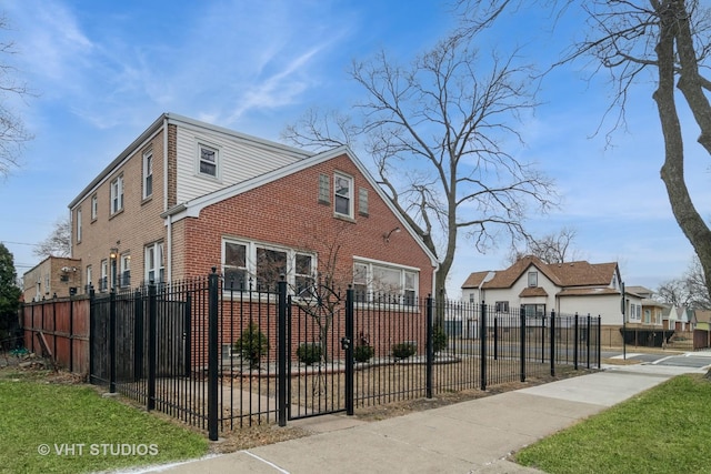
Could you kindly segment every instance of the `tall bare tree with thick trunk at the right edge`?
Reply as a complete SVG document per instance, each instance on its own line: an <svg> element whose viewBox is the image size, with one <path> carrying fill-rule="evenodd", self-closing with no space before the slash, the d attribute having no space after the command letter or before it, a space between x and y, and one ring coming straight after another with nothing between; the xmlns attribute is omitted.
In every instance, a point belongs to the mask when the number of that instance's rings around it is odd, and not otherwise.
<svg viewBox="0 0 711 474"><path fill-rule="evenodd" d="M617 111L614 128L625 123L629 94L641 83L655 85L652 99L664 139L661 179L674 218L694 249L705 288L711 292L711 229L694 204L684 179L683 130L698 127L698 142L711 154L711 103L708 72L711 52L711 9L699 0L540 0L552 7L560 20L567 9L580 6L589 29L580 42L570 44L558 64L591 59L594 72L610 74L613 99L608 112ZM504 10L521 7L521 0L459 0L465 20L460 34L492 27ZM483 21L480 20L481 13ZM691 111L692 121L681 113Z"/></svg>

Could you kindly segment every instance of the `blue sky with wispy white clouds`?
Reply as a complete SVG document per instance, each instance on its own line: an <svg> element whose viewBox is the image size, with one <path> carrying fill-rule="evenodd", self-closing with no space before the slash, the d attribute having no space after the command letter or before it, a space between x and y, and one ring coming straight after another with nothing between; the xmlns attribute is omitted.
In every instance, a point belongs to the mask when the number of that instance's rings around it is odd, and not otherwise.
<svg viewBox="0 0 711 474"><path fill-rule="evenodd" d="M31 244L68 214L68 203L162 112L279 140L307 109L348 112L362 98L347 74L352 59L379 49L408 62L453 24L433 0L122 1L9 0L2 8L16 42L12 63L37 92L17 103L34 140L22 165L0 182L0 241L18 273L38 263ZM487 40L519 44L530 62L554 59L570 36L552 36L535 17L510 19ZM487 47L482 42L482 49ZM532 215L537 234L575 229L580 259L618 261L628 285L654 289L679 278L692 249L677 225L659 178L663 143L649 85L630 97L628 129L594 135L610 100L585 64L555 71L544 103L510 150L557 181L563 201ZM607 129L603 129L605 131ZM711 213L708 157L688 137L688 177L702 215ZM359 153L361 161L371 163ZM508 248L484 255L462 240L449 292L472 271L505 265Z"/></svg>

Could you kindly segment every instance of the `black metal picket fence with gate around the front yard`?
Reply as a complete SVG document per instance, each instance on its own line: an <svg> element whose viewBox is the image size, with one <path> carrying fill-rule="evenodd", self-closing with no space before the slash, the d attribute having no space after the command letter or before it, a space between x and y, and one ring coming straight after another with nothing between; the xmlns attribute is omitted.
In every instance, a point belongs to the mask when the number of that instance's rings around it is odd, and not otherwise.
<svg viewBox="0 0 711 474"><path fill-rule="evenodd" d="M91 296L90 381L219 432L600 366L600 319L234 289L217 273Z"/></svg>

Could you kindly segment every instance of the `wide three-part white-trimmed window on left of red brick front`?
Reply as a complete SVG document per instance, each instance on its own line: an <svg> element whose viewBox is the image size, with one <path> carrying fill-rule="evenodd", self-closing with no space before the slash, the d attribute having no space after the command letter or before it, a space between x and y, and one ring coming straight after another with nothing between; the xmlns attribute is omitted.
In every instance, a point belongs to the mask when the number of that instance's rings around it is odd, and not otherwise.
<svg viewBox="0 0 711 474"><path fill-rule="evenodd" d="M260 242L224 239L222 274L224 290L273 291L286 275L291 293L304 296L314 282L316 255Z"/></svg>

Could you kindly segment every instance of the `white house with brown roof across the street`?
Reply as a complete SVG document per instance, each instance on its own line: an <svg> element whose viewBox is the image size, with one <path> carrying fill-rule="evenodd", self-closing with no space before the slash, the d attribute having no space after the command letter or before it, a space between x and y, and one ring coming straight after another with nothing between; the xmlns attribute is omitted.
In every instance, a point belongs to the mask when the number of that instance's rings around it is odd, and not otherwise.
<svg viewBox="0 0 711 474"><path fill-rule="evenodd" d="M505 270L474 272L462 284L469 302L485 302L497 311L523 306L527 315L558 314L601 316L602 326L621 326L621 278L618 264L585 261L548 264L524 256ZM629 322L642 317L642 297L627 294Z"/></svg>

